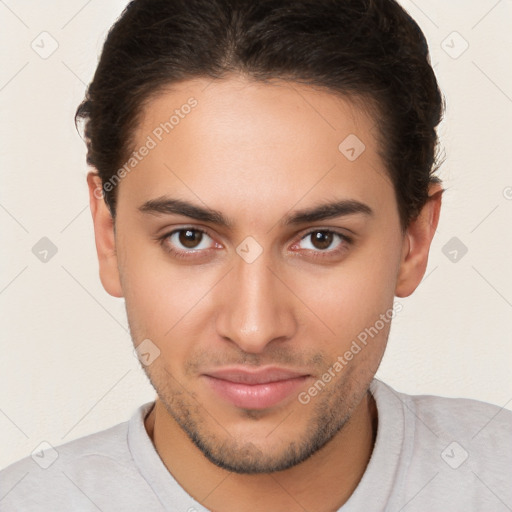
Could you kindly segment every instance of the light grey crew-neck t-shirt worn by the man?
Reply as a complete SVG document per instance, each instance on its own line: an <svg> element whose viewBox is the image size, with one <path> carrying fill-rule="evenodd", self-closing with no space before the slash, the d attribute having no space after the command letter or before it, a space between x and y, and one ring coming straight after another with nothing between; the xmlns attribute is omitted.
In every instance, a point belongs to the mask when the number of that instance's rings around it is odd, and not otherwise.
<svg viewBox="0 0 512 512"><path fill-rule="evenodd" d="M512 510L511 411L407 395L378 379L370 391L378 410L376 442L340 511ZM8 466L0 472L0 511L206 512L158 456L144 427L152 405L125 423Z"/></svg>

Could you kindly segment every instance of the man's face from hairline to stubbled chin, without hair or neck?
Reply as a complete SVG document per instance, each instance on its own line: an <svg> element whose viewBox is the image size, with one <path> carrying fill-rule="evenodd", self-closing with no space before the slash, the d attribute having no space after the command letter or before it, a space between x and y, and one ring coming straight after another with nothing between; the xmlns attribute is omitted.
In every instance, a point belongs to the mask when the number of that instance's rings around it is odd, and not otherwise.
<svg viewBox="0 0 512 512"><path fill-rule="evenodd" d="M134 344L159 351L145 371L210 461L289 468L346 424L395 294L419 282L374 122L298 84L195 80L147 104L145 145L118 185L103 284Z"/></svg>

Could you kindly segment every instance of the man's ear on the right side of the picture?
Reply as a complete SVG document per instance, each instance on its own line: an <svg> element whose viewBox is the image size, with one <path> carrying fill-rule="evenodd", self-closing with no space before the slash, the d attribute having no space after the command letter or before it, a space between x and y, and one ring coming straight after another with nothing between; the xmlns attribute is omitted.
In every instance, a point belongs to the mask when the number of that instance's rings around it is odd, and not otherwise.
<svg viewBox="0 0 512 512"><path fill-rule="evenodd" d="M439 223L442 194L441 184L432 183L425 206L406 230L395 289L397 297L411 295L425 275L430 244Z"/></svg>

